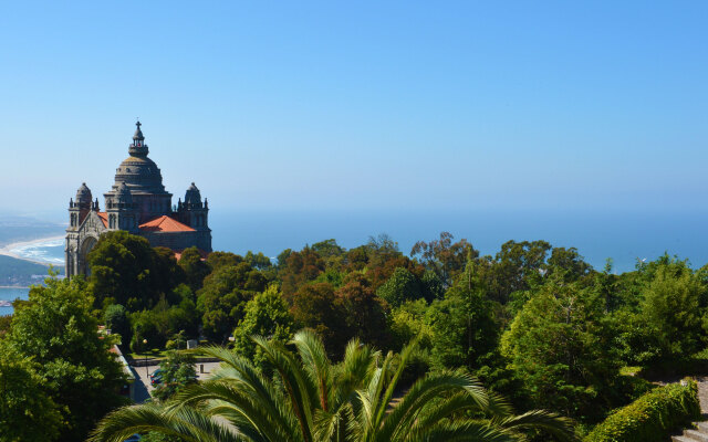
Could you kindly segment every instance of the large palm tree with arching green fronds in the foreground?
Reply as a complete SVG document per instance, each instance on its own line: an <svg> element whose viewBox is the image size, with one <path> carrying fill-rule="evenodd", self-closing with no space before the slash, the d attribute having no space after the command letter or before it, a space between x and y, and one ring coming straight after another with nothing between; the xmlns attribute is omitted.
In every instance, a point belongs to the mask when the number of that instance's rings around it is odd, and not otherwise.
<svg viewBox="0 0 708 442"><path fill-rule="evenodd" d="M393 403L416 349L385 357L352 340L333 365L322 340L301 330L292 340L299 358L280 343L254 337L273 370L211 347L221 368L179 392L168 404L126 407L106 415L94 442L121 442L157 431L199 442L414 442L518 441L524 429L575 440L571 422L546 411L513 415L511 408L464 372L429 373Z"/></svg>

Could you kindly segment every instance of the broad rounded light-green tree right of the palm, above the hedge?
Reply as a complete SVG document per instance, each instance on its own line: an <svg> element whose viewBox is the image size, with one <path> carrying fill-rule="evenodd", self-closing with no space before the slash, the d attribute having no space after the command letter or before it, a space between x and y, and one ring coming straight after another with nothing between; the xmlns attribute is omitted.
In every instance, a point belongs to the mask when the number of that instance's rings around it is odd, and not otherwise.
<svg viewBox="0 0 708 442"><path fill-rule="evenodd" d="M559 277L530 297L501 349L533 403L592 422L612 403L621 364L615 337L604 299Z"/></svg>

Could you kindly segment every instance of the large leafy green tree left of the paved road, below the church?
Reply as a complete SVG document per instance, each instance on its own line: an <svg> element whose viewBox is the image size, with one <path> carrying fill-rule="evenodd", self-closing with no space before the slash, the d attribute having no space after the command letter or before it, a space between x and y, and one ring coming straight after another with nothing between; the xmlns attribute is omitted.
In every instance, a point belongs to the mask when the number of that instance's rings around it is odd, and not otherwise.
<svg viewBox="0 0 708 442"><path fill-rule="evenodd" d="M45 280L19 306L6 337L12 349L37 362L46 394L61 409L61 440L83 440L94 423L123 403L117 394L125 378L110 352L112 343L98 335L91 315L93 298L80 278Z"/></svg>

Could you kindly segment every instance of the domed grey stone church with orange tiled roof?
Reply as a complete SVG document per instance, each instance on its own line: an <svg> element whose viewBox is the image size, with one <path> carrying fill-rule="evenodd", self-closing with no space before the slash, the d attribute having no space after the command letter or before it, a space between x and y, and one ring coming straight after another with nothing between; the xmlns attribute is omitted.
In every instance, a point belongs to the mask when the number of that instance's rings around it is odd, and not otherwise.
<svg viewBox="0 0 708 442"><path fill-rule="evenodd" d="M69 201L69 229L66 229L66 276L91 273L86 256L105 232L125 230L146 238L152 246L169 248L178 255L196 245L205 253L211 252L211 230L208 223L209 204L201 200L199 189L192 182L177 206L173 194L165 190L157 165L147 157L148 148L140 130L140 122L127 159L115 173L115 183L103 194L105 210L101 211L98 198L93 199L86 183L76 191L76 199Z"/></svg>

